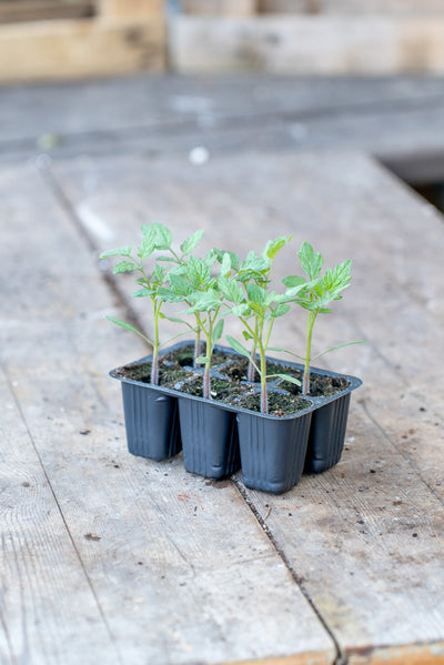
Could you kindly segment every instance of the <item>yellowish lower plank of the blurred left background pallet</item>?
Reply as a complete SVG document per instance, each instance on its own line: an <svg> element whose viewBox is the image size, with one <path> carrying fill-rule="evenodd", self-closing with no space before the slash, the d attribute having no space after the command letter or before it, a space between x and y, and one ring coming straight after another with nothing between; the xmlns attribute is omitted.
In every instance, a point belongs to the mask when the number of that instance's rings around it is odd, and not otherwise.
<svg viewBox="0 0 444 665"><path fill-rule="evenodd" d="M163 69L164 26L157 18L143 22L73 19L0 26L1 82Z"/></svg>

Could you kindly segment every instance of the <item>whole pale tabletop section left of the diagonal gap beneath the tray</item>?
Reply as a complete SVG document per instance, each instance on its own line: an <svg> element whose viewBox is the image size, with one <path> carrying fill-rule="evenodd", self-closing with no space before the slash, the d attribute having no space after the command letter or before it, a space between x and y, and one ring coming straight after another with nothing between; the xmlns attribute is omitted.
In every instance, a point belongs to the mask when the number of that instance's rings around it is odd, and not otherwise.
<svg viewBox="0 0 444 665"><path fill-rule="evenodd" d="M236 487L186 474L181 457L152 465L125 452L108 370L143 350L103 320L113 295L51 188L18 167L1 171L1 364L21 432L8 426L2 465L4 662L314 652L327 665L332 638ZM32 253L10 280L23 246Z"/></svg>

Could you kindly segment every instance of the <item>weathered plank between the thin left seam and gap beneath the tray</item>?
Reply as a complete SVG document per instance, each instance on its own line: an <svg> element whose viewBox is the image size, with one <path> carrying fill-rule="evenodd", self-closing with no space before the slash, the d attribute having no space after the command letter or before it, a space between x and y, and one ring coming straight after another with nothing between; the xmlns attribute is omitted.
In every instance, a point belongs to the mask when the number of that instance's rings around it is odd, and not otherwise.
<svg viewBox="0 0 444 665"><path fill-rule="evenodd" d="M235 486L186 474L180 457L152 464L125 452L107 370L142 346L103 321L113 298L39 174L2 170L1 193L2 362L121 661L313 653L316 665L331 663L331 637ZM16 645L20 635L9 638ZM51 662L65 663L67 648L49 648Z"/></svg>

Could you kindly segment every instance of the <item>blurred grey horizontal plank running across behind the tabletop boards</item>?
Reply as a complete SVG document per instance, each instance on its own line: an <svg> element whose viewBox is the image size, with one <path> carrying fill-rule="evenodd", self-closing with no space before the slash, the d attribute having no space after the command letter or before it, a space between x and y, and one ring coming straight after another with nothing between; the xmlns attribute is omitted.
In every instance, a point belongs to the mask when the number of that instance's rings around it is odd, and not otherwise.
<svg viewBox="0 0 444 665"><path fill-rule="evenodd" d="M98 104L107 113L98 115ZM210 153L339 147L365 150L403 177L427 182L444 178L443 137L443 82L435 77L151 77L0 90L6 161L41 151L70 157L188 154L196 145Z"/></svg>

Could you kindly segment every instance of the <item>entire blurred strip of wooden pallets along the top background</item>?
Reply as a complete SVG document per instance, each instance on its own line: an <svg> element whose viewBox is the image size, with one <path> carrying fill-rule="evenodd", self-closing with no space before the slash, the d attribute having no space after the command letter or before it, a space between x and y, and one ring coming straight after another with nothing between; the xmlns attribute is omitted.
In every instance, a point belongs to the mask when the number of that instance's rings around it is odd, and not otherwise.
<svg viewBox="0 0 444 665"><path fill-rule="evenodd" d="M3 0L0 81L444 71L440 0Z"/></svg>

